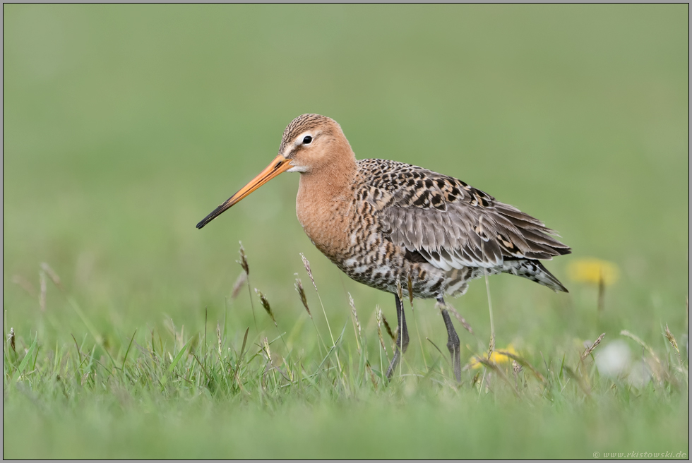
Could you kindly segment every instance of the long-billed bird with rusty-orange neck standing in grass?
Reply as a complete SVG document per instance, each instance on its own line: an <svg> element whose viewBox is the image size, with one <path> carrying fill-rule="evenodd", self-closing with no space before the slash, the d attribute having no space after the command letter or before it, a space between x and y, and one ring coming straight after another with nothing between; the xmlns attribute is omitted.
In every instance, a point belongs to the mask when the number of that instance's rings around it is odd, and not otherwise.
<svg viewBox="0 0 692 463"><path fill-rule="evenodd" d="M568 292L541 260L571 248L543 222L452 176L403 162L357 160L341 126L320 114L293 119L274 160L197 228L282 172L300 174L297 217L316 248L348 277L394 294L399 329L387 378L409 343L401 299L410 292L439 303L458 382L460 339L446 296L499 273Z"/></svg>

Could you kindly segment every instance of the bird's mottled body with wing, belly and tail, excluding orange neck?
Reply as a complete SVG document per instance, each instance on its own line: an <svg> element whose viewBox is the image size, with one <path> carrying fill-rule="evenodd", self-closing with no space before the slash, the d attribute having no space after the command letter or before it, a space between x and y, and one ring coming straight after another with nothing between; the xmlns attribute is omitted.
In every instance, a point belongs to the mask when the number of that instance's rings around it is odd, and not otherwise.
<svg viewBox="0 0 692 463"><path fill-rule="evenodd" d="M566 291L539 260L570 253L543 222L451 176L402 162L367 159L347 205L347 241L332 260L347 275L414 295L463 293L470 279L508 272Z"/></svg>

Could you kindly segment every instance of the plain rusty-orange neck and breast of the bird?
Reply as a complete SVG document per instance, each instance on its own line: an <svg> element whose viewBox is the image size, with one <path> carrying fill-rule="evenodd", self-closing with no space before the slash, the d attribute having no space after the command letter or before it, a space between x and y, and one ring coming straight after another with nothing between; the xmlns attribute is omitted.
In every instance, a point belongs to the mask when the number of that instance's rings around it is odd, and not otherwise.
<svg viewBox="0 0 692 463"><path fill-rule="evenodd" d="M357 164L348 145L342 152L331 154L332 162L300 174L296 212L315 246L328 258L334 259L347 243Z"/></svg>

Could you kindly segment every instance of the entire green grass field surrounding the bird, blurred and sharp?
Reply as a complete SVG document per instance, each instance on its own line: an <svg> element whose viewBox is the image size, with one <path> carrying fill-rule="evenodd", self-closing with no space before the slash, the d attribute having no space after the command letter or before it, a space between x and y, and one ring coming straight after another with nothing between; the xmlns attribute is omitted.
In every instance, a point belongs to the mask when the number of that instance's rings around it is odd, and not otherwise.
<svg viewBox="0 0 692 463"><path fill-rule="evenodd" d="M4 457L688 454L687 5L3 13ZM455 385L432 301L407 305L411 344L383 380L393 297L311 245L295 175L195 229L304 112L359 158L456 176L561 232L573 254L547 267L569 294L489 279L496 347L543 380L499 363ZM589 256L620 269L602 313L568 277ZM451 303L467 362L491 335L484 282ZM650 381L599 373L617 339Z"/></svg>

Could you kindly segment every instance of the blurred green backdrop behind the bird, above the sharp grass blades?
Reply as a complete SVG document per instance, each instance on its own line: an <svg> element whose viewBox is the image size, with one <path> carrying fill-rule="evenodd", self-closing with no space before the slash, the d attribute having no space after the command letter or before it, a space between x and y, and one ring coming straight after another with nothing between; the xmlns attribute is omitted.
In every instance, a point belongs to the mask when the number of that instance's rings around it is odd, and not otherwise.
<svg viewBox="0 0 692 463"><path fill-rule="evenodd" d="M211 327L240 272L238 241L252 286L284 330L305 318L293 287L294 272L307 281L301 252L333 326L350 316L347 292L364 324L376 305L394 320L389 294L341 275L304 236L297 174L195 229L266 166L285 126L306 112L338 121L358 158L463 179L572 246L547 264L568 295L491 278L499 346L537 351L621 329L662 345L662 324L686 331L686 4L3 13L3 305L5 330L21 339L88 333L53 287L41 315L42 262L112 344L138 327L163 330L166 318L200 330L205 308ZM587 256L621 270L600 318L595 287L567 276ZM452 303L489 338L483 282ZM252 324L247 291L228 305L237 339ZM444 344L433 303L417 307L422 336ZM257 315L261 330L273 330Z"/></svg>

